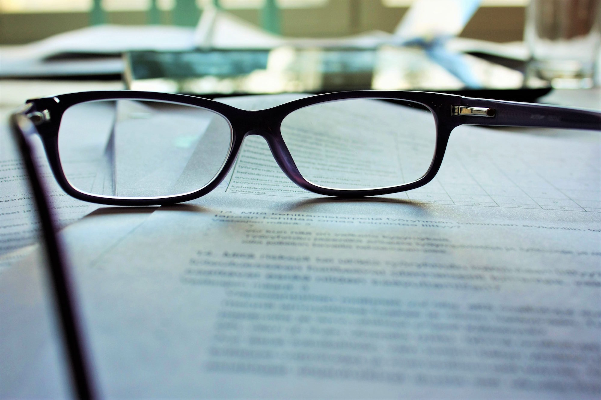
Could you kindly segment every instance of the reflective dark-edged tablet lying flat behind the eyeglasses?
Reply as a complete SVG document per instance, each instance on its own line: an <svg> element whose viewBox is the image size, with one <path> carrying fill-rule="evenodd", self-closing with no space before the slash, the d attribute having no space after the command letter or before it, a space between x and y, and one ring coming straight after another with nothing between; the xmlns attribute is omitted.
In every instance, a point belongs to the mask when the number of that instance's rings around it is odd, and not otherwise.
<svg viewBox="0 0 601 400"><path fill-rule="evenodd" d="M127 88L221 97L284 92L424 90L533 102L551 88L524 87L523 74L471 55L460 55L468 87L417 47L129 52ZM473 82L477 82L477 86Z"/></svg>

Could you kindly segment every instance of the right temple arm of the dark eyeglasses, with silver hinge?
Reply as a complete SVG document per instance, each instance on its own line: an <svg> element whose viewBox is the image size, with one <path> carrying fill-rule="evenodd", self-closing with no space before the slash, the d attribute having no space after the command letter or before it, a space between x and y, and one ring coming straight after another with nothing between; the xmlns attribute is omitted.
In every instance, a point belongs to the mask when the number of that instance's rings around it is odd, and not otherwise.
<svg viewBox="0 0 601 400"><path fill-rule="evenodd" d="M451 112L462 124L601 130L601 112L596 111L471 97L461 103Z"/></svg>

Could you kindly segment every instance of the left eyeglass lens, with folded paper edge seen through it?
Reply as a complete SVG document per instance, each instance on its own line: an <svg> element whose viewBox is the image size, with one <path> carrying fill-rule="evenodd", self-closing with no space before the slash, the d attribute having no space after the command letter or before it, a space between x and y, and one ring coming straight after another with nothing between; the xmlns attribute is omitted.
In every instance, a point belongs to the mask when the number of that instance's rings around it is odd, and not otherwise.
<svg viewBox="0 0 601 400"><path fill-rule="evenodd" d="M102 100L66 110L58 150L67 180L82 192L171 196L209 183L221 170L231 139L228 121L207 109Z"/></svg>

